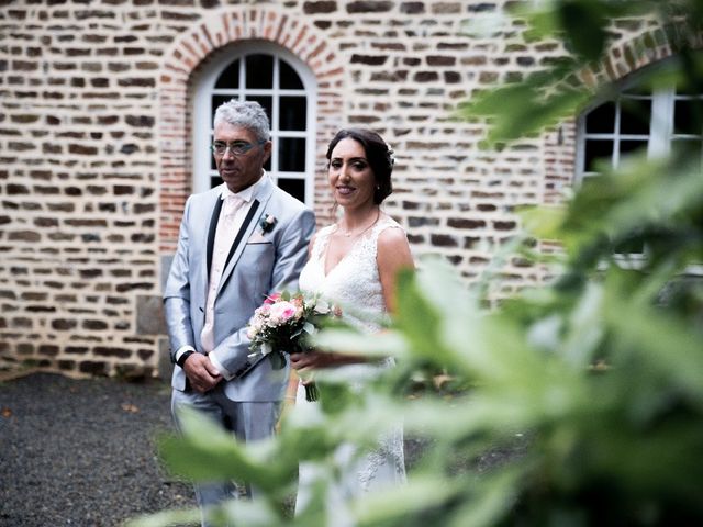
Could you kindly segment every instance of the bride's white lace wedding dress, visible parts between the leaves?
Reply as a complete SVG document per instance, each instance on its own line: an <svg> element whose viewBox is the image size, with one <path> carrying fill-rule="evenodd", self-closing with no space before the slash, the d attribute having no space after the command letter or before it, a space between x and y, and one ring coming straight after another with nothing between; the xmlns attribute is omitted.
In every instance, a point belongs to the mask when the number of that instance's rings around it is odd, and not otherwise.
<svg viewBox="0 0 703 527"><path fill-rule="evenodd" d="M343 318L357 328L373 333L379 329L376 322L386 314L386 303L376 262L377 240L379 234L387 228L401 228L392 218L381 216L378 223L357 239L347 255L325 273L325 256L330 236L336 225L322 228L311 251L311 257L300 273L301 291L319 293L323 299L347 307ZM349 378L353 388L362 389L362 379L373 375L384 365L348 365L336 370ZM324 396L324 393L322 394ZM319 403L305 401L305 390L298 386L297 406L306 412L321 413ZM403 456L403 430L400 423L390 431L378 438L378 447L360 456L354 447L343 445L335 452L335 462L342 472L341 481L327 489L327 512L334 515L335 526L352 525L345 514L345 502L367 492L400 484L405 481L405 463ZM297 500L297 512L300 513L310 501L310 489L319 478L320 467L301 463Z"/></svg>

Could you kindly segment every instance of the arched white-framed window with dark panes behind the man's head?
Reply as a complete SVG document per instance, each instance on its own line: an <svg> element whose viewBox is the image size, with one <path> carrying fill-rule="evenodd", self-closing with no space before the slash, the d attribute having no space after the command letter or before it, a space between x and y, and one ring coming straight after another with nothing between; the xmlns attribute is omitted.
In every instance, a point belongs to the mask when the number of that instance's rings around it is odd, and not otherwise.
<svg viewBox="0 0 703 527"><path fill-rule="evenodd" d="M222 182L209 147L214 112L231 99L264 106L274 142L265 168L280 188L313 206L315 79L293 54L264 42L220 51L199 77L193 98L193 190Z"/></svg>

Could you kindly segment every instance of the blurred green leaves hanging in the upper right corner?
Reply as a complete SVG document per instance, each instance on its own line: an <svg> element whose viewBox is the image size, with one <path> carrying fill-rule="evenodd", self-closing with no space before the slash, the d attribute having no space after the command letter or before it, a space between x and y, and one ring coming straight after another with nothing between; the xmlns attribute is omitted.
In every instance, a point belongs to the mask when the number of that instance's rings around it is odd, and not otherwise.
<svg viewBox="0 0 703 527"><path fill-rule="evenodd" d="M658 15L660 35L678 48L680 60L651 71L645 83L677 83L703 91L703 58L690 48L702 29L701 0L543 0L514 5L514 14L525 22L526 41L556 40L570 54L554 58L548 68L532 72L520 82L475 93L459 106L457 114L461 119L489 121L487 147L502 147L520 137L534 136L579 114L590 101L607 99L611 87L587 82L584 74L598 66L617 35L612 29L616 19ZM660 45L654 38L643 38L635 49L645 57L656 55Z"/></svg>

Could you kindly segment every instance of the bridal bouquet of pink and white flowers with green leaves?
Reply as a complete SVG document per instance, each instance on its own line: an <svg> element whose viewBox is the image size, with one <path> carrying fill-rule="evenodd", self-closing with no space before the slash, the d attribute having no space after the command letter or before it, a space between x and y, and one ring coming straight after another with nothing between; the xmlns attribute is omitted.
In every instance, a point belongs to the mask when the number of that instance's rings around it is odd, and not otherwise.
<svg viewBox="0 0 703 527"><path fill-rule="evenodd" d="M271 360L282 360L282 352L306 351L304 339L317 330L314 323L331 313L330 305L317 296L288 292L268 296L248 323L249 349L254 351L249 358L269 356ZM305 384L305 399L317 400L317 388L313 382Z"/></svg>

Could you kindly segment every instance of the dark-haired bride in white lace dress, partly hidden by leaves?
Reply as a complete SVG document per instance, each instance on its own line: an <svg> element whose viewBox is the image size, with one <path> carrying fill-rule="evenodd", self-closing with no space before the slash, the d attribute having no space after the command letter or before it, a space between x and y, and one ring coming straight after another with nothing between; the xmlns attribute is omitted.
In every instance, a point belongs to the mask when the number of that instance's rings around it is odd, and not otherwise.
<svg viewBox="0 0 703 527"><path fill-rule="evenodd" d="M392 191L392 152L377 133L349 128L336 134L326 157L330 188L343 214L337 223L313 237L308 264L300 274L300 289L352 307L354 314L343 314L346 322L365 332L377 332L379 326L370 321L393 311L397 272L413 267L404 231L380 209ZM392 363L391 359L387 362ZM317 350L292 355L291 366L300 372L334 367L348 370L349 378L358 378L364 369L379 368L364 363L362 358ZM295 405L317 405L305 400L302 382L297 386ZM354 451L338 453L354 458ZM297 514L310 502L314 478L315 468L302 463ZM343 470L343 481L330 489L328 500L342 506L349 498L404 481L403 436L398 426L379 438L373 451Z"/></svg>

